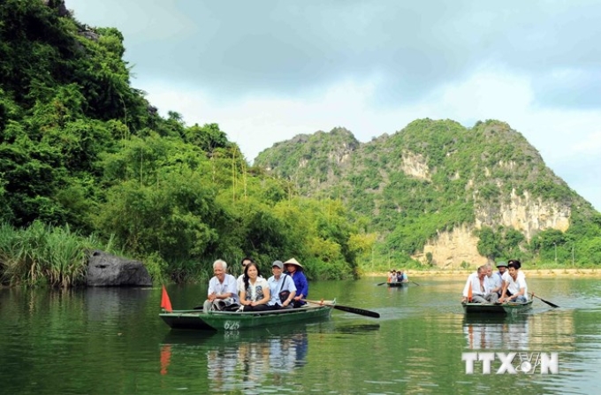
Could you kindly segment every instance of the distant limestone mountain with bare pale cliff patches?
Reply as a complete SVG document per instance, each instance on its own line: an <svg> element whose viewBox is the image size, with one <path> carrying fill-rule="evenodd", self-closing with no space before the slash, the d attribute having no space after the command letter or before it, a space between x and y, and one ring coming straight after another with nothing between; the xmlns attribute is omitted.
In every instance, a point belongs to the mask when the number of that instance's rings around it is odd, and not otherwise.
<svg viewBox="0 0 601 395"><path fill-rule="evenodd" d="M599 213L521 133L496 120L468 128L419 119L366 143L338 127L278 142L255 165L367 218L380 259L457 267L486 258L549 261L559 250L567 262L575 248L585 262L582 253L601 247ZM590 254L586 262L601 262Z"/></svg>

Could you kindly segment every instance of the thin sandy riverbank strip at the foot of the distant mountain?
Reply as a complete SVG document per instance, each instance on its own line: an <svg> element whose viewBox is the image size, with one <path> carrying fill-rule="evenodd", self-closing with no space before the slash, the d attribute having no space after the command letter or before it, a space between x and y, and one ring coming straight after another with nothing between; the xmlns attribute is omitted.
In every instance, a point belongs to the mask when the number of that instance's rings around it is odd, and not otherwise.
<svg viewBox="0 0 601 395"><path fill-rule="evenodd" d="M475 270L405 270L412 277L468 277ZM601 277L601 269L530 269L521 270L526 277ZM365 277L383 277L387 272L369 272Z"/></svg>

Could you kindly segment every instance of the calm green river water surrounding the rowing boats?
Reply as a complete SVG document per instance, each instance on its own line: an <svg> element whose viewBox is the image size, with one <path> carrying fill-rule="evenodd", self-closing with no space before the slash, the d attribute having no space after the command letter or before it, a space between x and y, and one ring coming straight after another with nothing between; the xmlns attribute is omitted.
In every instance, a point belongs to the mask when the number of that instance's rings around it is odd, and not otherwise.
<svg viewBox="0 0 601 395"><path fill-rule="evenodd" d="M597 393L601 284L595 278L529 278L527 315L467 320L463 281L414 277L312 283L311 299L367 308L331 320L250 332L171 331L158 317L160 288L50 292L0 290L0 393ZM206 287L168 287L174 308L202 302ZM466 374L462 353L558 353L559 373ZM520 353L521 352L521 353ZM516 357L517 358L517 357ZM519 365L519 360L517 365ZM534 372L534 373L533 373Z"/></svg>

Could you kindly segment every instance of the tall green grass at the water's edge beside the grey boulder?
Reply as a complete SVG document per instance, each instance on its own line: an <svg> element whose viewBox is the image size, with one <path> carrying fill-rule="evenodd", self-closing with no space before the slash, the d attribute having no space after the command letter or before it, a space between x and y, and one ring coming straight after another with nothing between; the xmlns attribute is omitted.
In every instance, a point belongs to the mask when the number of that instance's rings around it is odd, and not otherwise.
<svg viewBox="0 0 601 395"><path fill-rule="evenodd" d="M17 230L0 225L0 278L10 285L69 287L86 281L91 251L113 249L113 240L103 242L71 232L69 226L54 227L34 222Z"/></svg>

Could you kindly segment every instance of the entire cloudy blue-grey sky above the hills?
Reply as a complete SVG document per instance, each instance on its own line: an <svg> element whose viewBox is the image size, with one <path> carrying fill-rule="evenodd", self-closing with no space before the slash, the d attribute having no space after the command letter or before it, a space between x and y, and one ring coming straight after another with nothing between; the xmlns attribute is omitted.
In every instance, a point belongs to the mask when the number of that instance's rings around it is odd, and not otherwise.
<svg viewBox="0 0 601 395"><path fill-rule="evenodd" d="M125 36L132 86L252 163L301 133L498 119L601 209L597 0L65 0Z"/></svg>

